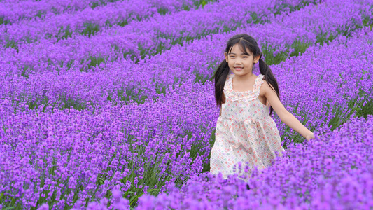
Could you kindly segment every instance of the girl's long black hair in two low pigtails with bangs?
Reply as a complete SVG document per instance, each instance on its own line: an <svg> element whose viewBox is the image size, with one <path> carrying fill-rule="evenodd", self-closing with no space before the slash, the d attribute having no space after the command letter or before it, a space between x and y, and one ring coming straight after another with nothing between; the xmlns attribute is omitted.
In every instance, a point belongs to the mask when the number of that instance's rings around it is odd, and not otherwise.
<svg viewBox="0 0 373 210"><path fill-rule="evenodd" d="M260 51L258 47L258 43L255 41L255 39L251 36L248 36L247 34L237 34L235 36L232 36L230 40L227 42L227 46L225 48L225 52L229 55L232 51L232 48L235 44L239 44L241 50L245 52L246 55L249 55L246 48L250 50L250 52L253 53L253 57L257 57L260 55L259 59L259 69L260 73L265 76L265 80L267 81L267 84L269 87L272 88L277 94L277 97L280 99L280 92L279 92L279 85L277 84L276 78L274 78L274 75L269 68L269 66L265 63L264 60L262 60L262 51ZM212 78L215 78L215 99L216 104L221 107L223 103L225 103L225 99L223 99L223 90L225 85L225 80L227 79L228 74L230 73L230 67L228 66L228 63L223 60L221 64L218 66L218 69L216 69L215 73L213 74ZM270 113L272 114L273 108L271 106Z"/></svg>

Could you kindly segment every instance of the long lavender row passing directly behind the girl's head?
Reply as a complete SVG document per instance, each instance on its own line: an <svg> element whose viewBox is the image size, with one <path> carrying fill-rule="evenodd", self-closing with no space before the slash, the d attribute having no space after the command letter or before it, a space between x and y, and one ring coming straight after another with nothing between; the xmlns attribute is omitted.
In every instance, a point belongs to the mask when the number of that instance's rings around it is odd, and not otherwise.
<svg viewBox="0 0 373 210"><path fill-rule="evenodd" d="M4 64L0 76L3 80L0 95L13 102L16 109L23 109L24 104L31 109L48 105L59 109L70 106L84 109L87 103L106 106L132 101L143 103L146 98L157 100L166 87L180 85L185 78L195 81L211 78L213 69L223 59L223 51L219 49L233 34L251 31L263 50L271 49L265 52L266 61L272 59L272 62L276 62L273 58L280 57L281 60L292 53L297 55L309 45L323 42L322 35L333 38L338 34L349 36L351 31L363 25L365 17L372 20L372 6L366 6L367 2L362 3L328 1L318 6L307 6L290 15L278 15L271 20L272 23L229 34L213 34L184 46L176 45L162 55L141 60L139 64L132 61L114 62L102 69L96 67L88 73L79 70L53 71L25 78L19 76L15 66ZM314 19L319 21L314 22ZM282 38L279 39L279 36ZM71 53L71 59L73 55ZM35 60L20 53L10 54L8 59L17 56ZM14 62L17 63L16 60Z"/></svg>

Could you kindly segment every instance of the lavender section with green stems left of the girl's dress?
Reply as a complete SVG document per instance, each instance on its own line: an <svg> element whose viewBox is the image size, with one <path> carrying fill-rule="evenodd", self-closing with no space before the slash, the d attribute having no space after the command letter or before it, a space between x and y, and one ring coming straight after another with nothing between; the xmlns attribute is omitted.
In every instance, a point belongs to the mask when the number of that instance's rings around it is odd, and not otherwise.
<svg viewBox="0 0 373 210"><path fill-rule="evenodd" d="M208 110L214 105L212 98L195 103L209 95L209 87L180 88L156 103L96 111L47 108L15 114L2 101L3 203L28 209L49 202L59 209L111 195L117 185L137 195L150 189L162 192L164 185L181 185L190 174L202 172L215 116ZM199 96L190 100L186 92ZM6 184L12 182L24 188ZM27 193L31 189L34 193Z"/></svg>

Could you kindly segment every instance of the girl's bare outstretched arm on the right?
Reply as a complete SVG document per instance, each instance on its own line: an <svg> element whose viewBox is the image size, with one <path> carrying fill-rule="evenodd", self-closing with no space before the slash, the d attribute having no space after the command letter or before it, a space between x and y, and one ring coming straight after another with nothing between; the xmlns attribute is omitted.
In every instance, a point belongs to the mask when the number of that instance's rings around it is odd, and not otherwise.
<svg viewBox="0 0 373 210"><path fill-rule="evenodd" d="M288 112L285 107L283 107L283 104L277 97L276 92L272 90L271 87L267 84L267 82L262 84L262 87L260 88L260 94L264 94L267 98L269 104L271 104L272 108L276 112L276 114L279 116L281 121L291 127L293 130L301 134L304 138L307 140L314 139L314 133L312 133L310 130L307 129L307 127L304 127L302 123L300 123L295 116L293 116L290 112Z"/></svg>

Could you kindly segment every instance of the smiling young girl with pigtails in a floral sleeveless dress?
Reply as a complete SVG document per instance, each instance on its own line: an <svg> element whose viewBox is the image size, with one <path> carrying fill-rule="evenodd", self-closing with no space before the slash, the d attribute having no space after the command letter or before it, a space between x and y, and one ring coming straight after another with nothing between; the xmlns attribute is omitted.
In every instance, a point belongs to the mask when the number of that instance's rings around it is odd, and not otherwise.
<svg viewBox="0 0 373 210"><path fill-rule="evenodd" d="M242 163L242 169L248 167L246 175L250 177L254 166L263 169L270 165L275 152L282 155L279 130L269 116L273 110L283 123L304 138L314 139L314 134L281 104L276 78L261 59L262 55L253 37L233 36L225 48L225 60L213 76L220 115L211 149L210 172L221 172L224 179L234 174L234 168L239 171L238 162ZM260 74L256 76L253 66L258 62Z"/></svg>

